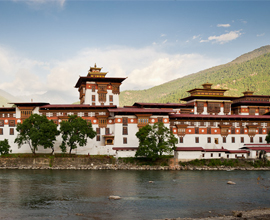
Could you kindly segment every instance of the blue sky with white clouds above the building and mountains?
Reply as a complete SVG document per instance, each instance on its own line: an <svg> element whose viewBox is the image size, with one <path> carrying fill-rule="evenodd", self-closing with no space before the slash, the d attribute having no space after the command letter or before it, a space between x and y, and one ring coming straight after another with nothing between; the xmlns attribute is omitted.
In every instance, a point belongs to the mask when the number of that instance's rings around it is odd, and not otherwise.
<svg viewBox="0 0 270 220"><path fill-rule="evenodd" d="M78 97L95 63L127 77L122 91L148 89L269 45L269 9L270 0L0 0L0 89Z"/></svg>

